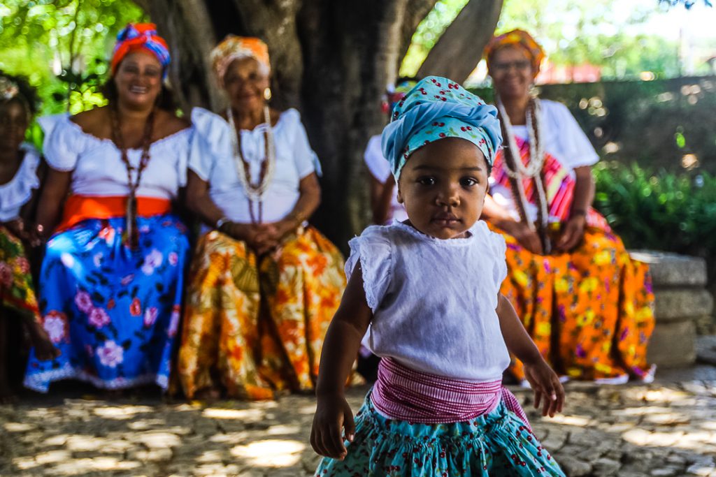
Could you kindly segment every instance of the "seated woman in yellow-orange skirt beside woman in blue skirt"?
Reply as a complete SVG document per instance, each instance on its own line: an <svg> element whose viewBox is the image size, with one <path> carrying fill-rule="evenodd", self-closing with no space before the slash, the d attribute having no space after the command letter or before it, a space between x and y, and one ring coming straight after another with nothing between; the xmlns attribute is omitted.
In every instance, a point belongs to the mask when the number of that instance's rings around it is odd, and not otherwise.
<svg viewBox="0 0 716 477"><path fill-rule="evenodd" d="M311 390L345 287L339 251L306 220L320 167L295 109L269 107L266 44L228 36L212 52L230 107L194 109L187 205L200 238L185 301L185 395L272 398Z"/></svg>

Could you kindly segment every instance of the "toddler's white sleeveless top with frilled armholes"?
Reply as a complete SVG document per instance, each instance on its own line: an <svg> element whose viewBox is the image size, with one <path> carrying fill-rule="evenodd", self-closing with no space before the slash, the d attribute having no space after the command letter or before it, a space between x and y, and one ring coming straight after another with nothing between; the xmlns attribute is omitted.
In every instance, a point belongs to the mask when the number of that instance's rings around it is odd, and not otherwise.
<svg viewBox="0 0 716 477"><path fill-rule="evenodd" d="M410 225L373 225L349 242L373 320L368 348L425 373L502 379L510 364L495 312L507 276L505 240L483 221L470 237L440 240Z"/></svg>

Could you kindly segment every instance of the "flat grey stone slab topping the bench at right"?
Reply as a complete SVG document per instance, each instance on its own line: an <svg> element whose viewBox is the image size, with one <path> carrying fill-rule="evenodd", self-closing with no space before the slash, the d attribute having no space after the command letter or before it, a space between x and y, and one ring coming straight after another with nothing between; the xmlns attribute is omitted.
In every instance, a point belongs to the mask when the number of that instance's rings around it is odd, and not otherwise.
<svg viewBox="0 0 716 477"><path fill-rule="evenodd" d="M706 260L703 258L654 250L629 250L629 255L649 264L655 288L706 285Z"/></svg>

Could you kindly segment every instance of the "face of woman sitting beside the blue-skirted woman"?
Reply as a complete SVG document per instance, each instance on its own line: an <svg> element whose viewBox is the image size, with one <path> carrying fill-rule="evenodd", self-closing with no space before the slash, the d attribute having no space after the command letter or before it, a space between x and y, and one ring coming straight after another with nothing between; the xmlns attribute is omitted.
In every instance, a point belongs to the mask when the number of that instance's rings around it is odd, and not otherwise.
<svg viewBox="0 0 716 477"><path fill-rule="evenodd" d="M263 90L269 87L269 76L253 58L236 59L224 74L224 88L237 111L253 111L263 107Z"/></svg>

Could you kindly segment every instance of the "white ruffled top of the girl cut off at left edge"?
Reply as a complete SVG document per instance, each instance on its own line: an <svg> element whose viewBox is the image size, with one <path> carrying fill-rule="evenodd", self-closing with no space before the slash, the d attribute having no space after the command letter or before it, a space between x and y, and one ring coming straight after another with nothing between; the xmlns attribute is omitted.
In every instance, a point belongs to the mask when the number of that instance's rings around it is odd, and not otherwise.
<svg viewBox="0 0 716 477"><path fill-rule="evenodd" d="M0 222L16 219L22 206L32 197L32 190L40 186L37 178L39 152L30 144L22 144L20 149L25 152L20 167L9 182L0 185Z"/></svg>

